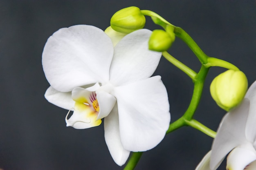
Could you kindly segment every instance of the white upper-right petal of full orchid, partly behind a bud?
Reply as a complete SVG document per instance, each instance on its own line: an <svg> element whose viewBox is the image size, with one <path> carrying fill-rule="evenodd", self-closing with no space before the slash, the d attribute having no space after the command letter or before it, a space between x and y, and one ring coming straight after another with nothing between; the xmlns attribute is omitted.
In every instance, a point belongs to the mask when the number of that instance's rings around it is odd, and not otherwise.
<svg viewBox="0 0 256 170"><path fill-rule="evenodd" d="M115 86L150 77L162 53L148 50L151 31L140 29L126 35L116 46L110 67L110 82Z"/></svg>

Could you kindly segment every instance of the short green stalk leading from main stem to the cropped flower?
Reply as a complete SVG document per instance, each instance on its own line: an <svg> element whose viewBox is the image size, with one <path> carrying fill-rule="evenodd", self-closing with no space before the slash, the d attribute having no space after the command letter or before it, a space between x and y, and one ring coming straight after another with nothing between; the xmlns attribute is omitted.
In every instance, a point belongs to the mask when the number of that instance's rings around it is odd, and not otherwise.
<svg viewBox="0 0 256 170"><path fill-rule="evenodd" d="M195 120L195 119L191 119L190 121L185 120L186 124L197 129L200 130L201 132L205 133L206 135L215 138L216 137L216 132L214 132L213 130L211 130L210 128L204 126L203 124L201 124L199 121Z"/></svg>

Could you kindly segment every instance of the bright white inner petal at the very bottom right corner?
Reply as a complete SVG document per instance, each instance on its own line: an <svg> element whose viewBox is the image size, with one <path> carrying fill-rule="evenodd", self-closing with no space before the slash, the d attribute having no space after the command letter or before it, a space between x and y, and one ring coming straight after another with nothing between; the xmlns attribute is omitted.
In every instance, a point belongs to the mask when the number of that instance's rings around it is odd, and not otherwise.
<svg viewBox="0 0 256 170"><path fill-rule="evenodd" d="M254 148L234 148L227 157L227 170L244 170L244 168L256 160Z"/></svg>

